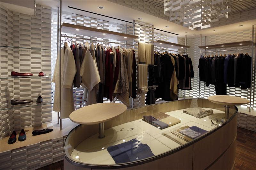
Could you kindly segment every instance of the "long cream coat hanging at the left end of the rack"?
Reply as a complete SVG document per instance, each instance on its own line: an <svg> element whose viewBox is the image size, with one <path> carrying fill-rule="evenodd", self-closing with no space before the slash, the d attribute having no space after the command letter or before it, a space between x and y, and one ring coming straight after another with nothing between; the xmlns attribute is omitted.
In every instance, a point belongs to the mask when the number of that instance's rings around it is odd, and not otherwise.
<svg viewBox="0 0 256 170"><path fill-rule="evenodd" d="M64 51L65 48L65 51ZM73 97L73 80L76 75L76 63L70 47L65 44L61 48L61 103L60 103L60 62L59 54L52 82L55 83L53 111L60 112L60 118L68 118L70 113L75 110Z"/></svg>

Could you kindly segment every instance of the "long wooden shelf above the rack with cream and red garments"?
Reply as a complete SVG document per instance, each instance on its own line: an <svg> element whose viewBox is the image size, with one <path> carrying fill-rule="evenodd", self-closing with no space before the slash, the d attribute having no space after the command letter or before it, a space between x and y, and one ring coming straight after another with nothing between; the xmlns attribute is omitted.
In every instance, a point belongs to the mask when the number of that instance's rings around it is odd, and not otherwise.
<svg viewBox="0 0 256 170"><path fill-rule="evenodd" d="M79 29L79 31L77 30ZM108 30L102 30L98 28L92 28L87 26L80 26L75 24L69 24L69 23L62 23L61 25L61 32L62 33L73 33L78 35L84 35L84 36L92 36L97 38L106 38L106 39L112 39L117 41L129 41L134 40L138 38L138 36L125 34L125 33L118 33L114 31L108 31ZM105 33L105 35L103 35ZM124 38L126 37L126 38Z"/></svg>

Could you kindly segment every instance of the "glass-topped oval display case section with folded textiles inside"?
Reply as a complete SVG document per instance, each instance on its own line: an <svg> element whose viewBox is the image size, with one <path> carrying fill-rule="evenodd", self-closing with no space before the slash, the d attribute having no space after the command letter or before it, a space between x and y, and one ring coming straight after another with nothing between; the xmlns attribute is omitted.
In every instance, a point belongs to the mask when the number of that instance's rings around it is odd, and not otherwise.
<svg viewBox="0 0 256 170"><path fill-rule="evenodd" d="M98 138L97 125L74 128L64 143L65 159L84 168L144 164L204 139L230 122L236 113L236 106L231 106L226 119L224 106L206 99L130 109L105 124L104 138Z"/></svg>

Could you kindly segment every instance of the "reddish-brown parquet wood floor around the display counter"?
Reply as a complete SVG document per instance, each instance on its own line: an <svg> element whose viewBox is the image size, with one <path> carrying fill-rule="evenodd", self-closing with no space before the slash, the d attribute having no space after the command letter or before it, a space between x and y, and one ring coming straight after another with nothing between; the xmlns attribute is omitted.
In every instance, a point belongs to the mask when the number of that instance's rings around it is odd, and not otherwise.
<svg viewBox="0 0 256 170"><path fill-rule="evenodd" d="M234 170L256 169L256 132L237 127L236 162ZM63 161L44 166L39 170L63 170Z"/></svg>

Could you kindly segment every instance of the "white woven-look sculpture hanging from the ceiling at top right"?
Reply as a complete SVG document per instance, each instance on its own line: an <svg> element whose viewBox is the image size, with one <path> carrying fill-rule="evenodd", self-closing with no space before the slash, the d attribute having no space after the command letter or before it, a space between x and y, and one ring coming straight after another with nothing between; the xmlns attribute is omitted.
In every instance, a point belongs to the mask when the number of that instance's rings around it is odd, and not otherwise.
<svg viewBox="0 0 256 170"><path fill-rule="evenodd" d="M231 0L164 0L164 14L170 15L170 21L191 30L211 27L212 22L228 18L230 11Z"/></svg>

